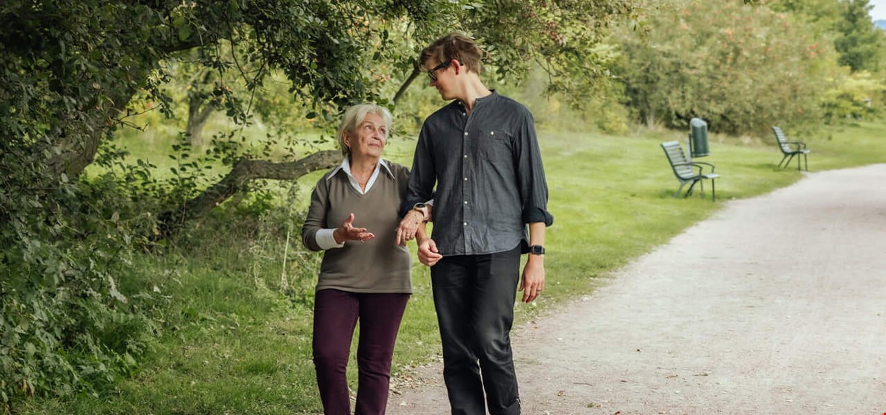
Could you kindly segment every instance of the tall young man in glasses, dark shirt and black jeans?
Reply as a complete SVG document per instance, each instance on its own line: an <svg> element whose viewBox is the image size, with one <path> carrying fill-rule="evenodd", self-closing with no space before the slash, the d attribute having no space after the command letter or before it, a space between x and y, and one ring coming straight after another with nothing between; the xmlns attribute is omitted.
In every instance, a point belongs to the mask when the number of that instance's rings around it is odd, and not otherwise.
<svg viewBox="0 0 886 415"><path fill-rule="evenodd" d="M431 86L453 102L424 121L400 227L426 217L421 202L434 199L433 234L418 234L418 257L432 265L452 413L488 406L509 415L520 413L509 338L520 255L529 253L519 288L529 303L544 289L545 227L554 219L532 114L483 85L480 57L456 34L422 51Z"/></svg>

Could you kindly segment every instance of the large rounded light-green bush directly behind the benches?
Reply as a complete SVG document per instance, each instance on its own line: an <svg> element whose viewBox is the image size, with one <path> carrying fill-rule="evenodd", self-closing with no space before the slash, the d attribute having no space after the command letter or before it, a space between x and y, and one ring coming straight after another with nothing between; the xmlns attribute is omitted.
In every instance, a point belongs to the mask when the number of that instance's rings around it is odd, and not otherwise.
<svg viewBox="0 0 886 415"><path fill-rule="evenodd" d="M648 125L683 128L700 117L711 130L762 131L817 114L833 51L804 20L736 1L674 2L649 15L649 39L623 32L629 104Z"/></svg>

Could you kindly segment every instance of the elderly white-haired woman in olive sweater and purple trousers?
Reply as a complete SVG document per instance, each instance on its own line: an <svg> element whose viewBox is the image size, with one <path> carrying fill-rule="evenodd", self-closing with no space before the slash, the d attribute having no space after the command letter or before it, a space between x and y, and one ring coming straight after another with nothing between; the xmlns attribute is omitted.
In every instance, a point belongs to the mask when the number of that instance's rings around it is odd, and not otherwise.
<svg viewBox="0 0 886 415"><path fill-rule="evenodd" d="M409 251L398 211L409 171L383 160L391 113L376 104L354 105L338 128L345 158L323 175L311 195L302 242L325 250L314 308L314 364L327 415L350 414L346 366L354 327L360 322L357 414L383 414L387 406L391 357L412 286ZM414 216L414 218L413 218ZM404 235L402 239L406 239ZM410 238L411 239L411 238Z"/></svg>

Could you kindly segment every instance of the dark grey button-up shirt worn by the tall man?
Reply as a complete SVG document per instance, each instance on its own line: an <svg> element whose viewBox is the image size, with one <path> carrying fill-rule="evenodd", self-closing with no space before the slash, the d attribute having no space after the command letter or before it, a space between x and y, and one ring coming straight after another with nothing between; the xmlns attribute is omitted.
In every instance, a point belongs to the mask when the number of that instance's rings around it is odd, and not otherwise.
<svg viewBox="0 0 886 415"><path fill-rule="evenodd" d="M425 119L401 213L431 198L444 256L525 252L526 224L554 222L532 113L493 91L470 114L454 101Z"/></svg>

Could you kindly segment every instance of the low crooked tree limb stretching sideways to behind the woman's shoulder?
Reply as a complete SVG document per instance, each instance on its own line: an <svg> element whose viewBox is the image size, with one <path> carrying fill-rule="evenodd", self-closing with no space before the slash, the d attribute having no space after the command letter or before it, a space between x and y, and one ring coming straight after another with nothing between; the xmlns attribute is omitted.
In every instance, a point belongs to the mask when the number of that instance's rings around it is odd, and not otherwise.
<svg viewBox="0 0 886 415"><path fill-rule="evenodd" d="M341 152L318 151L306 158L287 163L241 158L221 181L207 188L202 194L185 203L180 209L159 215L158 233L152 240L159 241L178 232L190 220L201 219L215 206L243 190L246 183L258 179L296 180L307 173L338 165Z"/></svg>

